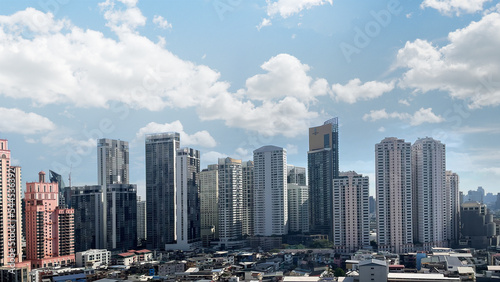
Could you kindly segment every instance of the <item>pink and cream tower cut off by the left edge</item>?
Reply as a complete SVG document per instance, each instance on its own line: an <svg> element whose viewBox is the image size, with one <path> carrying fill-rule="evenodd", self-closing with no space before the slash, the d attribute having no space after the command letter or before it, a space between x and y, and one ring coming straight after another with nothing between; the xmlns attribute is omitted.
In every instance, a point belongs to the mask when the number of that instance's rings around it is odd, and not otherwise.
<svg viewBox="0 0 500 282"><path fill-rule="evenodd" d="M14 266L23 261L21 248L21 168L11 165L8 142L0 139L0 264Z"/></svg>

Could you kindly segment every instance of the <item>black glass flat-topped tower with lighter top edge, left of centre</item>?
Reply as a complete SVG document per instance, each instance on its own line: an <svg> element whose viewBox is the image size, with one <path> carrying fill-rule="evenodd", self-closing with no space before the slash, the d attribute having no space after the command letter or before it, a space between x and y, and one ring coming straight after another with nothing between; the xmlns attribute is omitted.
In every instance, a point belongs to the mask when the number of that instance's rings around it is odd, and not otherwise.
<svg viewBox="0 0 500 282"><path fill-rule="evenodd" d="M147 246L175 242L175 163L179 133L146 135Z"/></svg>

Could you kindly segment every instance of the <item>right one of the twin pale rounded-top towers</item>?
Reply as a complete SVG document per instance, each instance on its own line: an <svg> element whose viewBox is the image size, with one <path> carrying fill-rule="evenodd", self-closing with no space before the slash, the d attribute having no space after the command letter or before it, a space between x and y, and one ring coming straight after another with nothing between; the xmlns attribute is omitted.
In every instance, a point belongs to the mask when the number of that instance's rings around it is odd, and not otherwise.
<svg viewBox="0 0 500 282"><path fill-rule="evenodd" d="M445 212L446 149L432 138L415 141L412 150L413 237L426 251L448 247L450 214Z"/></svg>

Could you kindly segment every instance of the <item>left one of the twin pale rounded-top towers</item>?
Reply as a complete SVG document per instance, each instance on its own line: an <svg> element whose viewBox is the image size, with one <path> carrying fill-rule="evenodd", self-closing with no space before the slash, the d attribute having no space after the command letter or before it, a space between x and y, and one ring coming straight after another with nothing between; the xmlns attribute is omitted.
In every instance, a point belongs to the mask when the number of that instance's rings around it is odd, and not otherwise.
<svg viewBox="0 0 500 282"><path fill-rule="evenodd" d="M375 145L379 250L413 251L411 144L388 137Z"/></svg>

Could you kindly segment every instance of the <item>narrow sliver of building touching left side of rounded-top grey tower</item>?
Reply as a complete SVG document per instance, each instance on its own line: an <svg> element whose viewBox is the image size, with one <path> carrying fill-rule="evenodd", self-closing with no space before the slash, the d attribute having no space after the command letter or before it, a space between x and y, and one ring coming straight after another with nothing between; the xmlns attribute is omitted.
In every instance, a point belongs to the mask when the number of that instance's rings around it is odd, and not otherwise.
<svg viewBox="0 0 500 282"><path fill-rule="evenodd" d="M243 180L243 235L254 235L254 184L253 161L243 162L241 165L242 180Z"/></svg>

